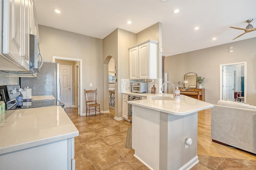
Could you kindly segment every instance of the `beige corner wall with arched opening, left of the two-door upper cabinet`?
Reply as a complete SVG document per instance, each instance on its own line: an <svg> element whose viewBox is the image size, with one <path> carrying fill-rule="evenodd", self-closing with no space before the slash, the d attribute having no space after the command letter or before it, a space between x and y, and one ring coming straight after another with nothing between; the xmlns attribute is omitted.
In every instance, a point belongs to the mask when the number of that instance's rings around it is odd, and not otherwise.
<svg viewBox="0 0 256 170"><path fill-rule="evenodd" d="M108 62L113 57L116 66L115 114L122 117L121 79L129 79L129 50L136 44L136 34L123 29L116 29L103 39L103 74L104 74L104 110L108 109ZM110 57L111 56L111 57Z"/></svg>

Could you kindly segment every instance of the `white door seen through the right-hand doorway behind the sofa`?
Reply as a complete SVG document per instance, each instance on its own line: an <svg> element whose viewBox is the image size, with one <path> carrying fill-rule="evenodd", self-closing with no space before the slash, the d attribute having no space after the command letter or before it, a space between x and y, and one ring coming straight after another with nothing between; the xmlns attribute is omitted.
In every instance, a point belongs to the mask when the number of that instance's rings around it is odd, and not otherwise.
<svg viewBox="0 0 256 170"><path fill-rule="evenodd" d="M234 100L234 67L223 66L223 93L222 100Z"/></svg>

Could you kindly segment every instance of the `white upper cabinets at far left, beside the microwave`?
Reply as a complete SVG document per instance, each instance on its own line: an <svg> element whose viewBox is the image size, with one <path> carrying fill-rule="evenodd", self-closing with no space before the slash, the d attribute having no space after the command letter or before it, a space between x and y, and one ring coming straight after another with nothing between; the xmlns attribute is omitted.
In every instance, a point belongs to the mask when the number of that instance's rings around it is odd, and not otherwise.
<svg viewBox="0 0 256 170"><path fill-rule="evenodd" d="M20 70L29 71L29 34L36 33L33 0L4 0L2 21L2 54Z"/></svg>

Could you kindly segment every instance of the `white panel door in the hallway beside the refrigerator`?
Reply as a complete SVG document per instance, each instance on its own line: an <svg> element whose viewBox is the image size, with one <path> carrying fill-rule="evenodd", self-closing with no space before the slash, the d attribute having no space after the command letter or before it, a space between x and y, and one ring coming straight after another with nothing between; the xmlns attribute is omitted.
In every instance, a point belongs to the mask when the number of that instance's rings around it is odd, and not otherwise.
<svg viewBox="0 0 256 170"><path fill-rule="evenodd" d="M60 65L60 102L71 107L71 70L72 66Z"/></svg>

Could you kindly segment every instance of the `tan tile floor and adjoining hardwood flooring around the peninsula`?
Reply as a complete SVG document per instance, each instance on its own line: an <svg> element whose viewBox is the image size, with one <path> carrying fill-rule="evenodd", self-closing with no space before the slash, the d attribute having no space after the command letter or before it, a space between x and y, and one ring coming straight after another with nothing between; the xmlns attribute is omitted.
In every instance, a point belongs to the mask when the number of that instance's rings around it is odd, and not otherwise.
<svg viewBox="0 0 256 170"><path fill-rule="evenodd" d="M114 120L114 108L110 111L89 119L77 115L76 108L67 108L66 113L79 130L75 138L76 170L147 170L133 156L134 150L124 147L127 129L132 124ZM210 109L198 112L199 163L192 170L256 170L256 156L212 142L210 120Z"/></svg>

